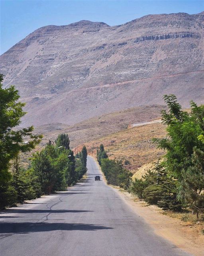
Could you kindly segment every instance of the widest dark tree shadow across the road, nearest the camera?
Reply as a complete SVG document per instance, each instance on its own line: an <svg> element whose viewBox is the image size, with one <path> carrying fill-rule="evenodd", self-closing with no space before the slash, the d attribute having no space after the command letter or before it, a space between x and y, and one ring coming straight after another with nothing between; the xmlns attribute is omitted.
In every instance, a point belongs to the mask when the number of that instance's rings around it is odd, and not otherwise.
<svg viewBox="0 0 204 256"><path fill-rule="evenodd" d="M53 230L85 230L85 231L95 231L102 229L112 229L110 227L93 225L93 224L83 224L83 223L45 223L45 222L4 222L0 224L0 234L2 233L12 233L12 234L27 234L30 232L47 232Z"/></svg>

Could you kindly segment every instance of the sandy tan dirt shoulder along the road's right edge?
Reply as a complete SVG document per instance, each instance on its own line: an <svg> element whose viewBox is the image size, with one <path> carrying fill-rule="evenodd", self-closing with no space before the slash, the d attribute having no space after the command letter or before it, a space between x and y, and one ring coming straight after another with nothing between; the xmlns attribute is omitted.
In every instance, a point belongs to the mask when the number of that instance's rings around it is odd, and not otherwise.
<svg viewBox="0 0 204 256"><path fill-rule="evenodd" d="M146 206L143 202L119 188L116 190L121 198L141 216L147 224L151 225L155 233L175 244L178 248L195 256L204 256L204 235L192 225L186 225L179 219L164 215L157 206Z"/></svg>

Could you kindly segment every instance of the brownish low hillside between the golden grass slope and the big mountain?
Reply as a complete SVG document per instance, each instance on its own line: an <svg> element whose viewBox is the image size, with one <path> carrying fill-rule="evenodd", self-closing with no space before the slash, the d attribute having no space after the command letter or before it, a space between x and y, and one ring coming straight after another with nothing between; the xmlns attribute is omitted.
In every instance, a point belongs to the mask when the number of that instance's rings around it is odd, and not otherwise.
<svg viewBox="0 0 204 256"><path fill-rule="evenodd" d="M71 148L89 142L98 140L108 134L113 134L121 130L127 130L131 124L151 121L161 117L161 110L165 106L143 106L129 108L103 116L97 116L77 123L73 126L67 126L62 123L51 123L35 127L35 132L43 134L41 145L48 140L55 140L60 133L68 133L71 140Z"/></svg>

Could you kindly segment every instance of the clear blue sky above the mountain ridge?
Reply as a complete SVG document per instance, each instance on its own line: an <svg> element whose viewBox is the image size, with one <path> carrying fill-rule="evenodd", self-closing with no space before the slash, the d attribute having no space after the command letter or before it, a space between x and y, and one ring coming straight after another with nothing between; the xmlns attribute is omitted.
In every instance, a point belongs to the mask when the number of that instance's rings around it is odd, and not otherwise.
<svg viewBox="0 0 204 256"><path fill-rule="evenodd" d="M46 25L67 25L79 20L123 24L147 14L204 11L197 0L1 0L1 54L35 29Z"/></svg>

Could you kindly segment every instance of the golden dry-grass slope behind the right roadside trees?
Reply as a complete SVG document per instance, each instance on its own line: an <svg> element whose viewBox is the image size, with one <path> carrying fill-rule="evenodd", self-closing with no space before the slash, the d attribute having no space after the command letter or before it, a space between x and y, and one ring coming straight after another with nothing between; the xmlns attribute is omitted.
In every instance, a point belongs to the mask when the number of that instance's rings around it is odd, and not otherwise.
<svg viewBox="0 0 204 256"><path fill-rule="evenodd" d="M163 124L148 124L109 134L84 145L90 154L95 154L100 144L104 144L110 159L128 160L126 168L134 173L143 164L151 163L163 156L165 152L158 149L152 139L163 138L165 134Z"/></svg>

